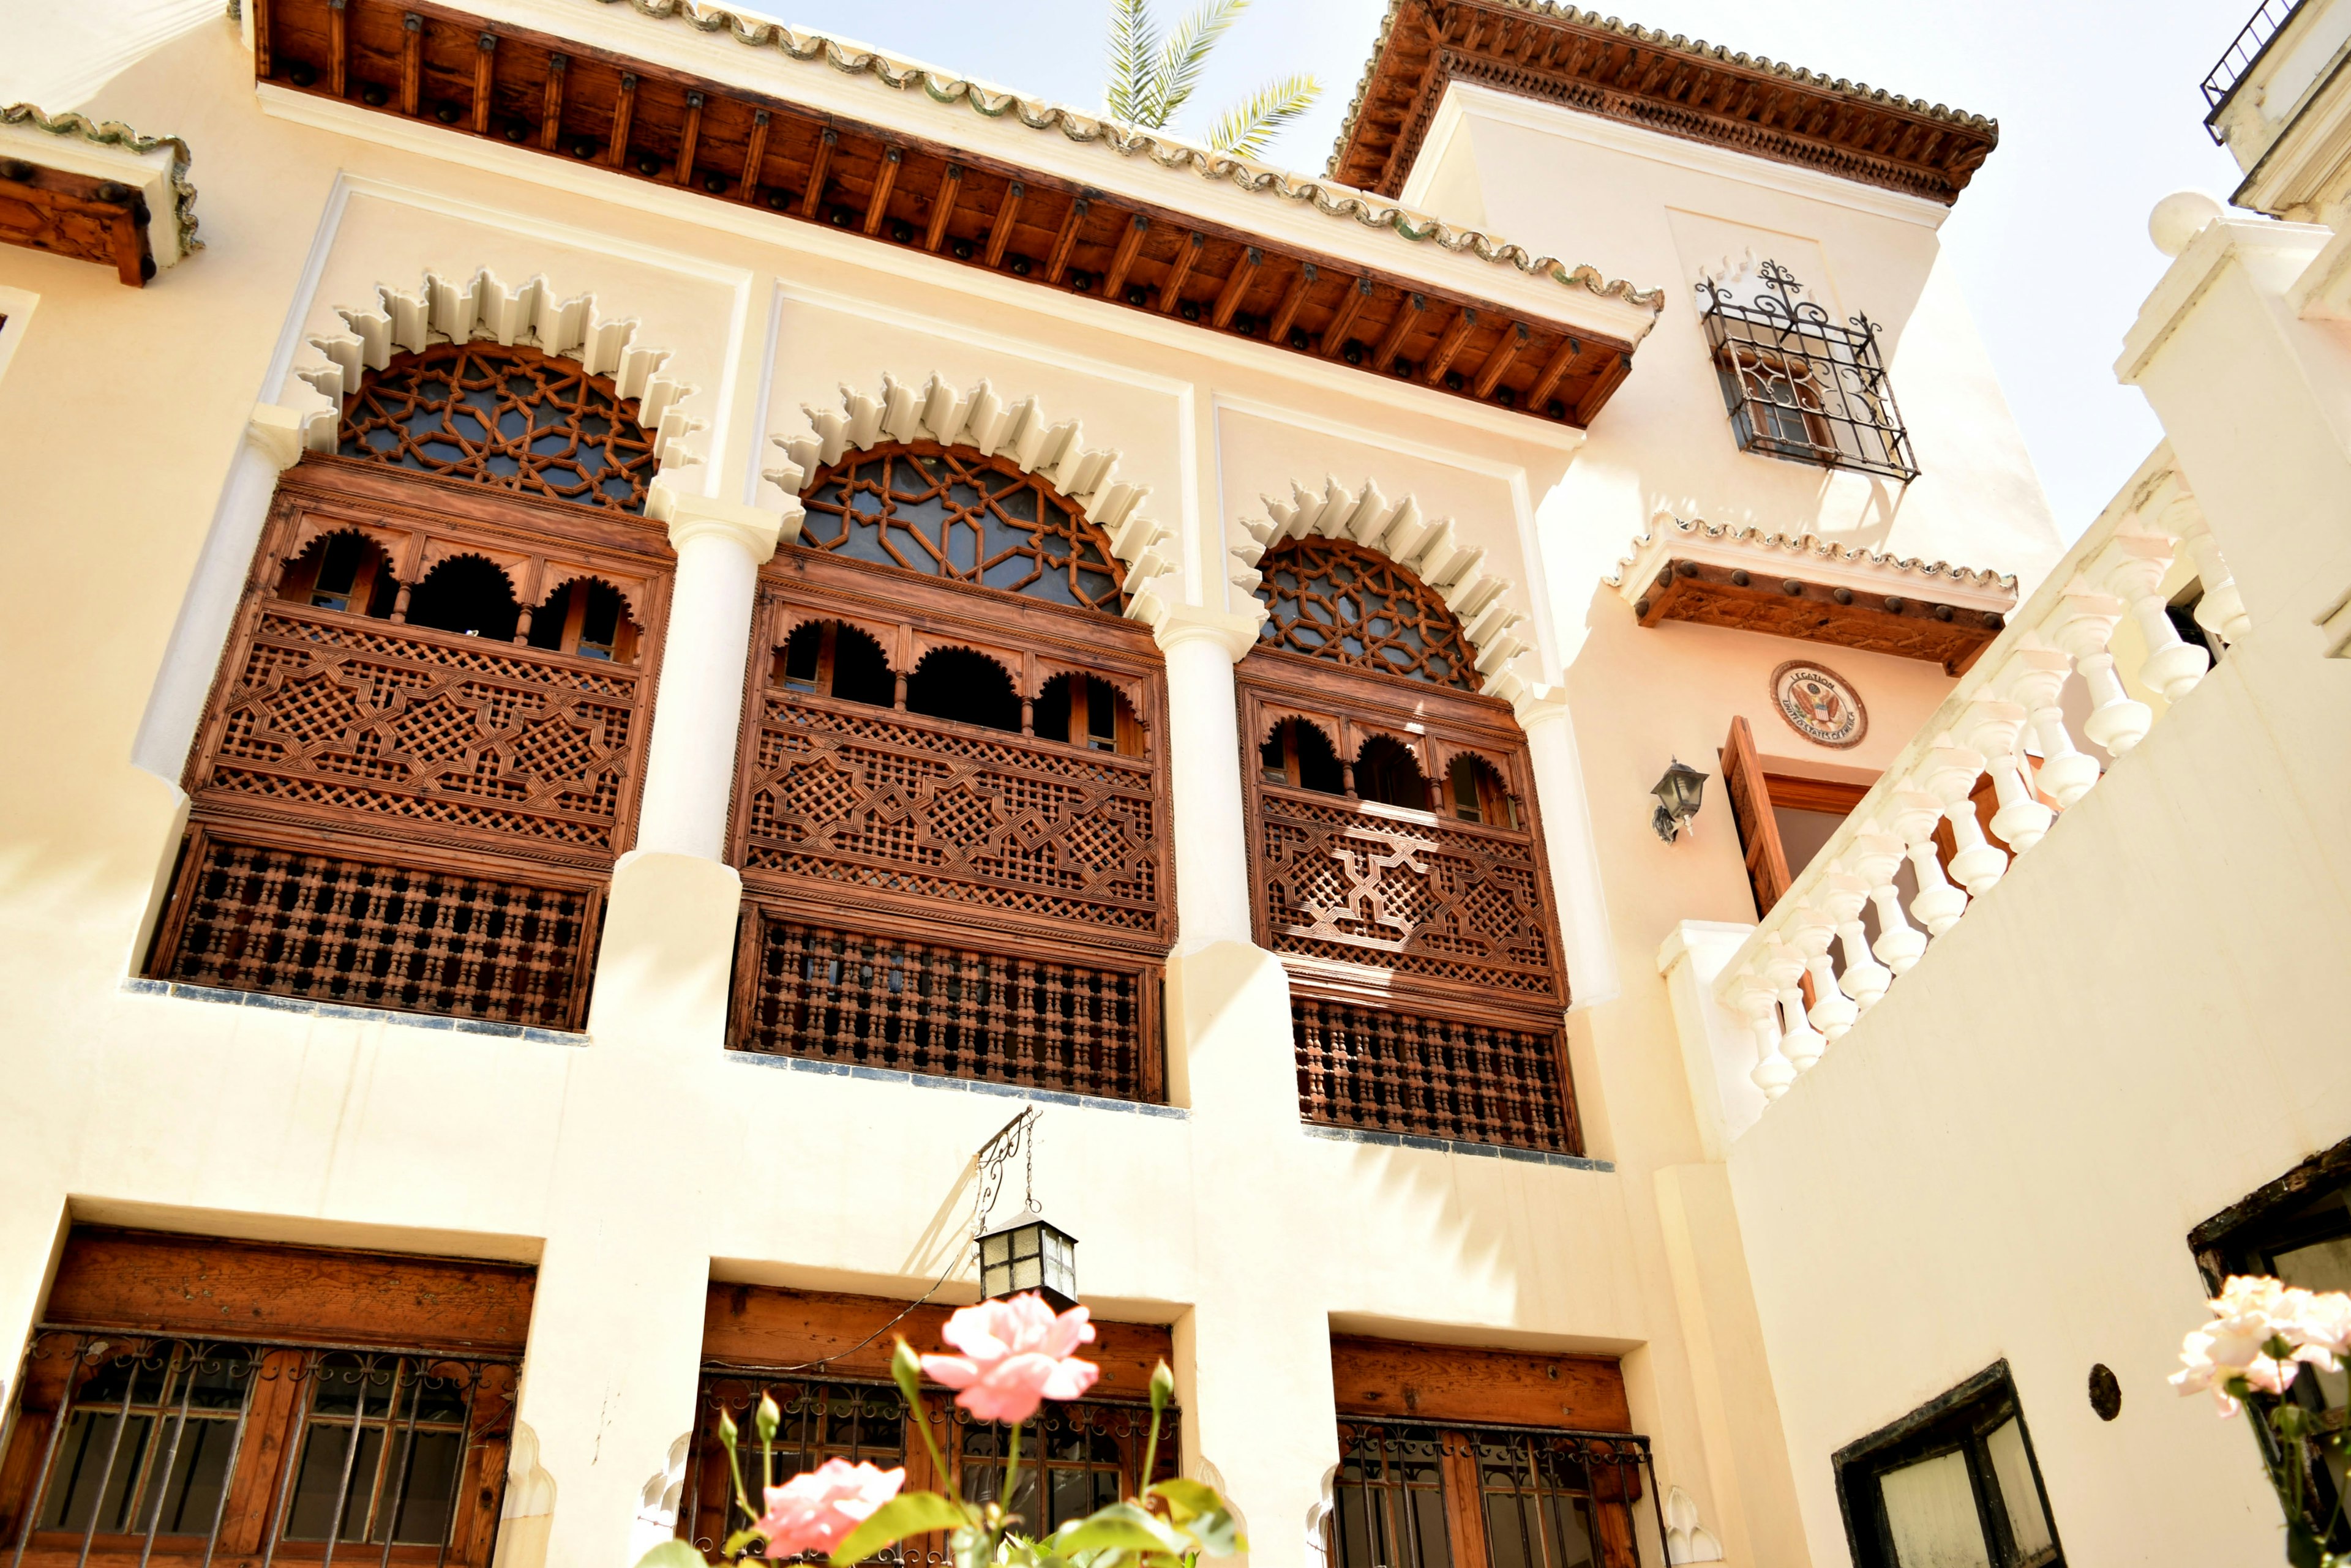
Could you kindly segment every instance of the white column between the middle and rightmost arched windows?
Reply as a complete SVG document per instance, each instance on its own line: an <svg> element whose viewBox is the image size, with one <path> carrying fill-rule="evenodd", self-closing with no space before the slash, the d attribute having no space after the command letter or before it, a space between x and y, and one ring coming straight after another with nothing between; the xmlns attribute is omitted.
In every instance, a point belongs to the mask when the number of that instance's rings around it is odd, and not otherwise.
<svg viewBox="0 0 2351 1568"><path fill-rule="evenodd" d="M1241 703L1232 665L1258 644L1255 616L1199 604L1152 632L1168 661L1168 792L1176 806L1176 940L1248 943L1248 832L1241 818Z"/></svg>

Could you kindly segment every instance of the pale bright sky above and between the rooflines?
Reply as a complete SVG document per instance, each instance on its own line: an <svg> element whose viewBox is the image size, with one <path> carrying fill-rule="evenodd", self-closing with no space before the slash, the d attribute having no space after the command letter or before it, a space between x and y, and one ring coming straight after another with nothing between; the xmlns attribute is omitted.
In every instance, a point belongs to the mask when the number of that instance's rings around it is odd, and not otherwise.
<svg viewBox="0 0 2351 1568"><path fill-rule="evenodd" d="M2146 242L2149 207L2189 186L2226 197L2236 183L2236 165L2205 136L2198 82L2252 2L1634 0L1625 19L2001 122L2001 146L1942 240L2071 538L2161 437L2139 393L2116 386L2114 360L2163 270ZM1037 96L1100 103L1107 0L764 0L762 9ZM1154 9L1161 26L1180 14L1178 0ZM1178 129L1199 134L1267 75L1314 71L1321 103L1267 158L1319 174L1382 12L1385 0L1258 0Z"/></svg>

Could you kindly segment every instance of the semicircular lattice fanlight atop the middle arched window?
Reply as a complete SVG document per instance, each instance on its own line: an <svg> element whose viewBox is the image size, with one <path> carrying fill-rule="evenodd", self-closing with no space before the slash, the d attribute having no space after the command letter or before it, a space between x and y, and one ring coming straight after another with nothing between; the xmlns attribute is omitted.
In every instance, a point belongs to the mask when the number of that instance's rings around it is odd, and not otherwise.
<svg viewBox="0 0 2351 1568"><path fill-rule="evenodd" d="M877 567L1121 614L1110 541L1011 458L905 442L856 451L802 498L799 543Z"/></svg>

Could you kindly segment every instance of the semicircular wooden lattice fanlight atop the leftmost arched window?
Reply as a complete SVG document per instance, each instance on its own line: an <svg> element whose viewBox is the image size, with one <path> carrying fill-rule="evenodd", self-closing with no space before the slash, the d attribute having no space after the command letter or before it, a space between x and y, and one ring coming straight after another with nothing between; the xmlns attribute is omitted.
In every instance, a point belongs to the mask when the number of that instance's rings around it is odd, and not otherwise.
<svg viewBox="0 0 2351 1568"><path fill-rule="evenodd" d="M393 355L343 402L336 451L614 512L644 510L656 468L611 378L498 343Z"/></svg>

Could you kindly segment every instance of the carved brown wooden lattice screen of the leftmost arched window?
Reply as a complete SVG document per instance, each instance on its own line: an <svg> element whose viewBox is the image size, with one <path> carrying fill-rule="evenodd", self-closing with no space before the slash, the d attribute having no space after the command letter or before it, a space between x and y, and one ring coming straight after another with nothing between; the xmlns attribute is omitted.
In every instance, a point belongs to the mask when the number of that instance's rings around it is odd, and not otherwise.
<svg viewBox="0 0 2351 1568"><path fill-rule="evenodd" d="M407 395L426 371L388 374ZM604 407L614 442L639 440L625 409L592 402L607 393L574 388L555 414ZM520 395L517 374L501 407L536 416ZM346 444L388 397L362 383ZM150 973L578 1027L635 825L672 559L625 512L513 494L498 465L292 468L188 762Z"/></svg>

